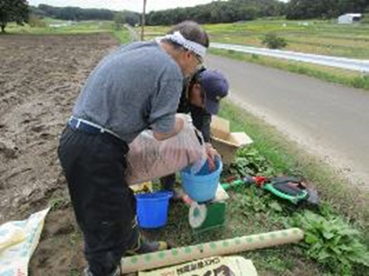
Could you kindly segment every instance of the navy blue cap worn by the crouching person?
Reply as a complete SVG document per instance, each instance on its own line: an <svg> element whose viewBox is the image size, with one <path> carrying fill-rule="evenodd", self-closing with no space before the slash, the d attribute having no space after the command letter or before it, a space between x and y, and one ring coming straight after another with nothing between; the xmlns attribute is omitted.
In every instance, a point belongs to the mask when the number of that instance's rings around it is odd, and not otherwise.
<svg viewBox="0 0 369 276"><path fill-rule="evenodd" d="M199 73L199 84L205 91L205 108L212 115L218 114L221 99L228 95L229 85L220 71L204 70Z"/></svg>

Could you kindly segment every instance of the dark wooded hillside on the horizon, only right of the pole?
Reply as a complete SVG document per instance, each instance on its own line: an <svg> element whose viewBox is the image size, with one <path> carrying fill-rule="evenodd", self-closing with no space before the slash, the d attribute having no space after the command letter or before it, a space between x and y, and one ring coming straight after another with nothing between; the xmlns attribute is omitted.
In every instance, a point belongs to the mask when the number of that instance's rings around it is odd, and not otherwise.
<svg viewBox="0 0 369 276"><path fill-rule="evenodd" d="M331 19L345 13L369 13L369 0L229 0L192 8L150 12L148 25L172 25L186 19L199 23L230 23L265 16L287 19Z"/></svg>

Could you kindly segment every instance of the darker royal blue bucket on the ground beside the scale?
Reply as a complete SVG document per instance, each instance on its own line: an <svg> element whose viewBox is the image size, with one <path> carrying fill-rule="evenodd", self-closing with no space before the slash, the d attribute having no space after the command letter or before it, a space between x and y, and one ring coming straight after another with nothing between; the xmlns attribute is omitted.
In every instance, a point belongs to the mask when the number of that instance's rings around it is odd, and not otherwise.
<svg viewBox="0 0 369 276"><path fill-rule="evenodd" d="M171 192L137 194L137 219L142 228L159 228L168 220L169 199Z"/></svg>

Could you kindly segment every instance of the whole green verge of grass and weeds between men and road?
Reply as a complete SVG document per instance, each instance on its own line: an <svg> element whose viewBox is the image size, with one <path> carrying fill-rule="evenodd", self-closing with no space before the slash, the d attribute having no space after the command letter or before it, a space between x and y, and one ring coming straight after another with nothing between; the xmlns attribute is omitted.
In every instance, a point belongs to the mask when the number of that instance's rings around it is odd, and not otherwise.
<svg viewBox="0 0 369 276"><path fill-rule="evenodd" d="M227 201L222 229L194 233L187 221L188 207L178 203L170 208L168 226L161 231L149 231L148 235L185 246L301 227L306 233L304 242L241 255L254 262L261 276L368 275L368 266L361 264L369 260L369 236L365 232L369 221L368 194L350 189L328 165L231 102L223 103L221 117L230 119L233 131L245 131L254 139L254 144L241 149L234 164L223 170L223 177L242 176L243 172L304 176L315 184L320 194L320 209L311 213L276 200L256 187L238 187L229 192L231 198ZM312 241L315 246L309 244ZM355 255L355 252L360 253ZM361 255L365 257L361 259Z"/></svg>

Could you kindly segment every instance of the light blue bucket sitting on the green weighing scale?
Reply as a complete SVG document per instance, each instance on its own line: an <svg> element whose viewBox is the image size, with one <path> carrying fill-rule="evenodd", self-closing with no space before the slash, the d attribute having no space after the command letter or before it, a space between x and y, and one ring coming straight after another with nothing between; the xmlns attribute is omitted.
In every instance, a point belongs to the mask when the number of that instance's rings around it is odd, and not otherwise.
<svg viewBox="0 0 369 276"><path fill-rule="evenodd" d="M216 159L215 165L215 170L210 171L206 162L197 174L192 174L190 168L182 170L182 187L192 200L203 203L215 197L223 168L221 159Z"/></svg>

